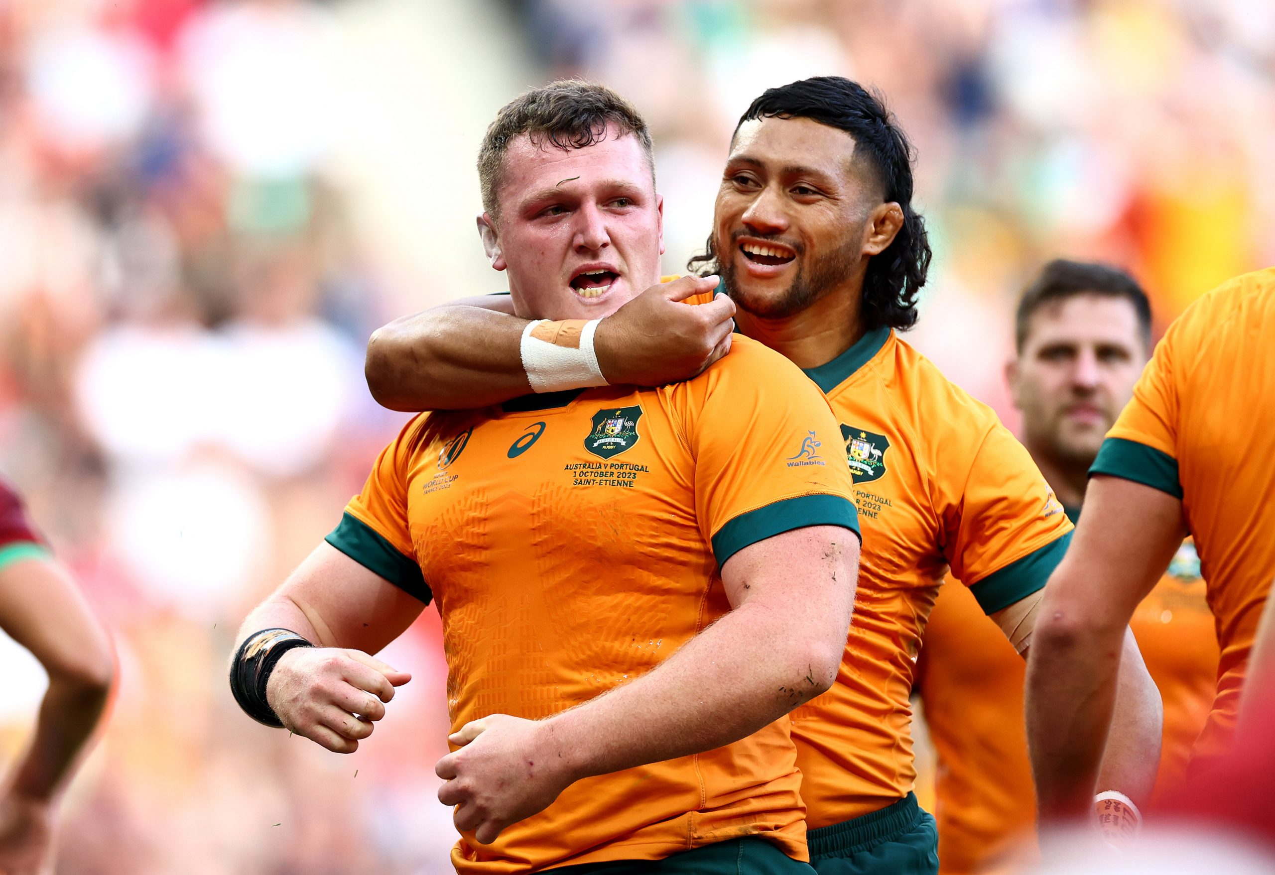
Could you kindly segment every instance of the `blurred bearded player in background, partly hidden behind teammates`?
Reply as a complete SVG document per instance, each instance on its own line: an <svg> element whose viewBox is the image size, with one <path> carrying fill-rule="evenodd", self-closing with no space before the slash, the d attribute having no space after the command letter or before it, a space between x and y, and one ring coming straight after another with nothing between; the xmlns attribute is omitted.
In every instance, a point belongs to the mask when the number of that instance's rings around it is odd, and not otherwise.
<svg viewBox="0 0 1275 875"><path fill-rule="evenodd" d="M1016 349L1006 378L1023 413L1023 442L1075 522L1089 466L1150 357L1150 302L1121 270L1051 261L1019 303ZM917 661L938 754L938 860L950 875L988 871L1030 839L1037 819L1025 666L980 614L964 587L942 587ZM1130 627L1164 701L1156 786L1167 786L1184 771L1218 679L1213 614L1190 540Z"/></svg>

